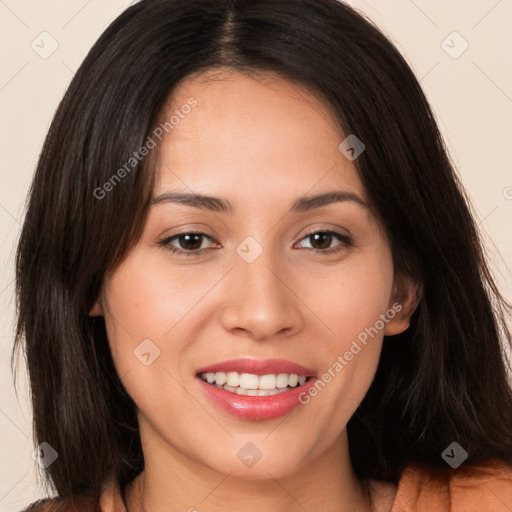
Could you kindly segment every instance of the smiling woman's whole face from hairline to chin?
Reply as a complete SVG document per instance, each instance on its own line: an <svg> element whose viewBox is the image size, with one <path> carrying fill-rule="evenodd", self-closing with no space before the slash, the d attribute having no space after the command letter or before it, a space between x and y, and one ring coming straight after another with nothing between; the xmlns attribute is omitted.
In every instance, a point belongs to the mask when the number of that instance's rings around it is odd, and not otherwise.
<svg viewBox="0 0 512 512"><path fill-rule="evenodd" d="M348 134L313 96L202 75L173 115L153 136L143 234L91 314L105 316L146 457L289 475L343 445L409 292L339 149Z"/></svg>

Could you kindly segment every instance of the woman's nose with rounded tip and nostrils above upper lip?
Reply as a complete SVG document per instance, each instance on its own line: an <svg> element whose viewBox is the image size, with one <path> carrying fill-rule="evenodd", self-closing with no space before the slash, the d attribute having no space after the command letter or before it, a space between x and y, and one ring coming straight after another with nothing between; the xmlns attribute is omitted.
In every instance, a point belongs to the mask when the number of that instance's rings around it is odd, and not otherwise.
<svg viewBox="0 0 512 512"><path fill-rule="evenodd" d="M265 341L301 330L304 306L294 291L293 272L284 265L278 265L270 250L252 263L236 260L221 313L226 331Z"/></svg>

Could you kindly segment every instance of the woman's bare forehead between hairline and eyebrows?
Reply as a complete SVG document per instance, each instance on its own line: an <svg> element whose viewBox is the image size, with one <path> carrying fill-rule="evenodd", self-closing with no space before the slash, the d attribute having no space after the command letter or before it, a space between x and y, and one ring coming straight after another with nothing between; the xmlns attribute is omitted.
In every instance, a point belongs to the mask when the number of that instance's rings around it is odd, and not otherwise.
<svg viewBox="0 0 512 512"><path fill-rule="evenodd" d="M338 149L345 136L332 113L282 78L229 71L190 78L161 121L171 117L157 148L155 195L179 186L262 205L341 188L365 199L353 163Z"/></svg>

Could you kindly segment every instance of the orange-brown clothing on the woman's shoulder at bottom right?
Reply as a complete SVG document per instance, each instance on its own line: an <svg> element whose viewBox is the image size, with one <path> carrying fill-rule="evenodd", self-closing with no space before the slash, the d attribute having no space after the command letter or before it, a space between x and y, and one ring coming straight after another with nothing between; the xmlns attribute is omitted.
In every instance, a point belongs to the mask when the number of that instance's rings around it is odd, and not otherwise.
<svg viewBox="0 0 512 512"><path fill-rule="evenodd" d="M410 464L390 512L494 512L511 506L512 464L486 459L457 469Z"/></svg>

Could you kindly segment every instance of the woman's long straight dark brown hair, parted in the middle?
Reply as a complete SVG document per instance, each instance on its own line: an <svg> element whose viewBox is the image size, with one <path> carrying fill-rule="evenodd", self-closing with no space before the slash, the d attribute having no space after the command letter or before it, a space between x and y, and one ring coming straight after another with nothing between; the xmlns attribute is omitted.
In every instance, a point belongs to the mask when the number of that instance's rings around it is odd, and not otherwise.
<svg viewBox="0 0 512 512"><path fill-rule="evenodd" d="M355 165L395 270L422 285L410 328L385 338L375 381L348 425L359 476L396 478L410 461L444 465L453 441L469 453L466 463L512 462L510 306L397 49L336 0L142 0L106 29L59 105L19 241L15 351L28 362L35 441L59 454L46 470L52 487L97 497L108 479L124 486L144 467L135 405L103 318L88 312L141 233L148 159L107 194L98 189L144 145L177 85L221 66L303 84L344 133L357 134L366 150Z"/></svg>

